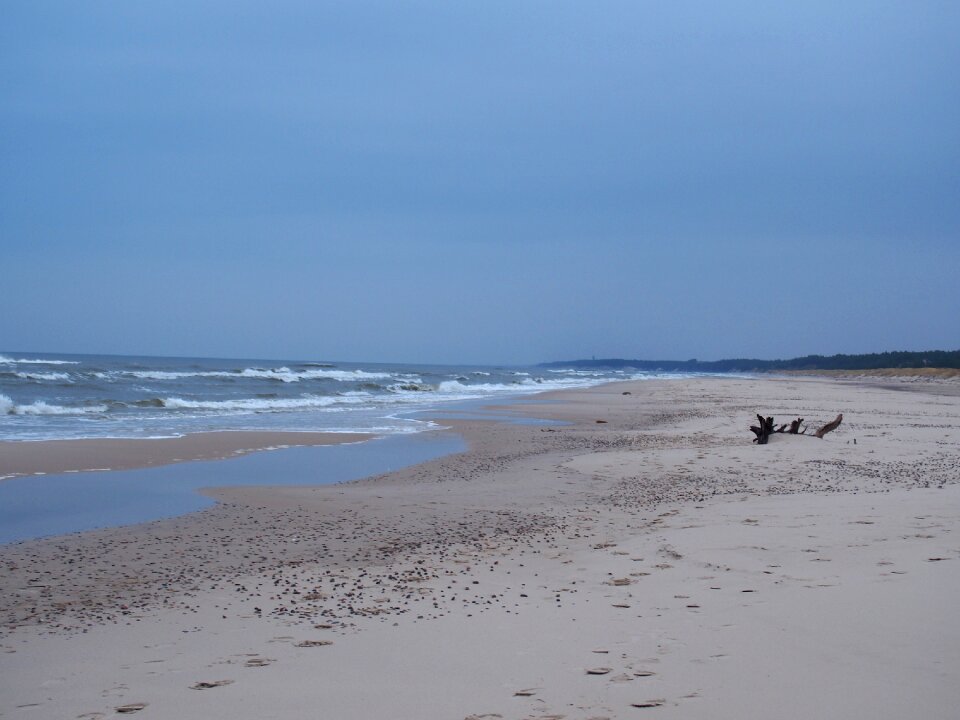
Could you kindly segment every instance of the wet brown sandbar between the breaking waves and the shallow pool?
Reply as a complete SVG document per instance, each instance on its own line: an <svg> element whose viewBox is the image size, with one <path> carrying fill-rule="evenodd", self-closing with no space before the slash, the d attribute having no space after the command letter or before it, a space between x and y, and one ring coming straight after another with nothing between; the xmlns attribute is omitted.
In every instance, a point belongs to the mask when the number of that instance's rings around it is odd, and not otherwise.
<svg viewBox="0 0 960 720"><path fill-rule="evenodd" d="M368 433L217 430L171 438L0 441L0 482L58 473L133 470L194 460L225 460L263 450L371 440Z"/></svg>

